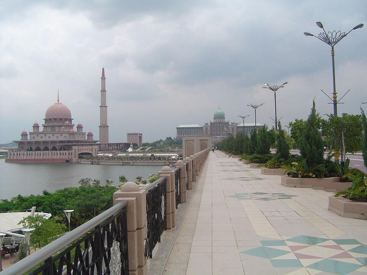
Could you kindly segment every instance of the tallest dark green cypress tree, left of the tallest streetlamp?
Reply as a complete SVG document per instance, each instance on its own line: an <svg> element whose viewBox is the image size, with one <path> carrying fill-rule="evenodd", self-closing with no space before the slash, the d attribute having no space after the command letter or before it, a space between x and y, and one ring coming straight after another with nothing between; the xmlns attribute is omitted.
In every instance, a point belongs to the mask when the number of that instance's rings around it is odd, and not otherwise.
<svg viewBox="0 0 367 275"><path fill-rule="evenodd" d="M306 129L299 147L299 151L309 167L323 164L324 162L324 144L321 133L316 127L316 119L315 99L313 99L311 113L308 116Z"/></svg>

